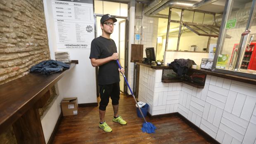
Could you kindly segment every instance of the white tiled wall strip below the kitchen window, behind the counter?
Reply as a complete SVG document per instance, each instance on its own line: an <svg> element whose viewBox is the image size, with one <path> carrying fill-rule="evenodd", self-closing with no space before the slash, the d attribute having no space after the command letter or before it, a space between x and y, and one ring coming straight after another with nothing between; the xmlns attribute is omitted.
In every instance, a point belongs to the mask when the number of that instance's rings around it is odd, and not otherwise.
<svg viewBox="0 0 256 144"><path fill-rule="evenodd" d="M197 65L202 58L208 58L208 53L202 52L164 52L164 64L171 63L174 59L192 59Z"/></svg>

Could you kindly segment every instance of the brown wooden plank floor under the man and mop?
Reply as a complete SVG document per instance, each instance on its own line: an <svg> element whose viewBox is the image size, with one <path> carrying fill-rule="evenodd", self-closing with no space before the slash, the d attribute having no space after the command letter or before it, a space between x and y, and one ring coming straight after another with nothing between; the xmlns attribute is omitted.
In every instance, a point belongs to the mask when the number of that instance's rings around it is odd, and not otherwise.
<svg viewBox="0 0 256 144"><path fill-rule="evenodd" d="M98 99L99 101L100 99ZM111 100L107 106L105 120L112 128L106 133L99 125L98 107L81 107L77 116L63 118L54 144L209 144L204 137L187 125L177 116L162 118L146 117L156 127L156 133L147 134L141 131L143 119L137 117L133 97L121 95L119 115L127 125L112 122L113 108Z"/></svg>

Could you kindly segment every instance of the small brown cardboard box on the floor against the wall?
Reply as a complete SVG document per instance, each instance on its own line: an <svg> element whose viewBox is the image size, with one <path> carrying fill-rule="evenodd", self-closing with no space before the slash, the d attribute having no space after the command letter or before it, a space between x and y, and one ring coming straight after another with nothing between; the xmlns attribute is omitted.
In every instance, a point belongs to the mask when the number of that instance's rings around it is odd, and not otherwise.
<svg viewBox="0 0 256 144"><path fill-rule="evenodd" d="M64 98L61 102L63 116L77 115L78 102L77 97Z"/></svg>

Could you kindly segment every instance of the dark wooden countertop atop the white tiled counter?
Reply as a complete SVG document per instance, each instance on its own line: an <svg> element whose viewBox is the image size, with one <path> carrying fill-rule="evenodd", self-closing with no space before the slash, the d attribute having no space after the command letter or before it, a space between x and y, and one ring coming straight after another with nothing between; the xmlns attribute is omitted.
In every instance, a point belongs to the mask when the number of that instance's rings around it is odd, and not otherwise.
<svg viewBox="0 0 256 144"><path fill-rule="evenodd" d="M166 65L156 66L156 65L143 64L141 62L136 62L136 64L139 64L139 65L142 65L142 66L147 66L147 67L153 68L153 69L172 69L170 66L166 66ZM253 78L235 76L235 75L232 75L232 74L219 73L219 72L215 72L215 71L211 71L211 70L204 70L204 69L190 68L190 71L204 73L204 74L211 75L211 76L217 76L217 77L221 77L221 78L227 78L227 79L230 79L230 80L237 80L237 81L240 81L240 82L250 83L250 84L256 85L256 79L253 79Z"/></svg>

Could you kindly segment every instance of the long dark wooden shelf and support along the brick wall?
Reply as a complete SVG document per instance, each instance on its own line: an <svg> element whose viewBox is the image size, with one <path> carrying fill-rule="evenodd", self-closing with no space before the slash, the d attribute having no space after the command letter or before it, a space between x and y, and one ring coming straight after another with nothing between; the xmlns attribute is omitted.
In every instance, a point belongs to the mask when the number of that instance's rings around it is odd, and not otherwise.
<svg viewBox="0 0 256 144"><path fill-rule="evenodd" d="M78 61L71 61L70 68L68 70L53 73L51 75L45 75L41 73L29 73L26 76L12 80L8 83L1 85L0 87L0 133L4 132L9 125L26 125L26 120L38 120L37 106L38 102L42 102L43 97L48 97L48 91L51 87L57 83L57 81L62 78L66 73L68 73ZM28 118L29 116L35 116L33 118ZM25 123L25 124L24 124ZM28 123L28 122L27 122ZM36 129L40 126L39 123L31 123L30 127ZM41 127L41 126L40 126ZM39 127L39 128L40 128ZM25 128L21 127L20 129ZM26 130L26 129L25 129ZM30 129L28 128L28 132ZM14 128L15 131L15 128ZM19 130L22 132L23 130ZM40 132L40 129L38 130ZM36 135L36 134L35 134ZM15 133L17 142L18 139L22 137L17 137L17 132ZM43 137L43 136L42 136ZM25 139L25 138L24 138ZM36 137L39 139L39 136ZM38 142L43 142L43 140L38 140ZM40 144L40 142L38 144ZM20 143L20 142L18 142Z"/></svg>

